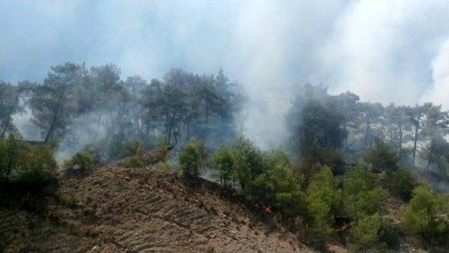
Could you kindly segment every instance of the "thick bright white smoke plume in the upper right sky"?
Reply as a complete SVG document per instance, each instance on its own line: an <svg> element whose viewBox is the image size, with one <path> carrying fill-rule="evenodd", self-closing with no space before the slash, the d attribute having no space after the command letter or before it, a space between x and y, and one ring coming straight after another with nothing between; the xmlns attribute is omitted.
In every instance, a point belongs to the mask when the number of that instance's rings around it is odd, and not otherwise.
<svg viewBox="0 0 449 253"><path fill-rule="evenodd" d="M362 100L414 104L431 83L431 59L449 34L445 1L354 1L319 52L319 78Z"/></svg>

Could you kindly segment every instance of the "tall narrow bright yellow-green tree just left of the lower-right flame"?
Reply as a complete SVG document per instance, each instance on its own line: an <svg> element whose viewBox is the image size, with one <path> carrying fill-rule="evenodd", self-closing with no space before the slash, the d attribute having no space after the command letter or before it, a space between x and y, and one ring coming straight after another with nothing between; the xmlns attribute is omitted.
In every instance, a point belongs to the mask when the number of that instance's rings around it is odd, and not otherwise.
<svg viewBox="0 0 449 253"><path fill-rule="evenodd" d="M329 167L323 166L310 180L307 188L307 212L311 231L323 240L333 231L334 215L341 212L342 191Z"/></svg>

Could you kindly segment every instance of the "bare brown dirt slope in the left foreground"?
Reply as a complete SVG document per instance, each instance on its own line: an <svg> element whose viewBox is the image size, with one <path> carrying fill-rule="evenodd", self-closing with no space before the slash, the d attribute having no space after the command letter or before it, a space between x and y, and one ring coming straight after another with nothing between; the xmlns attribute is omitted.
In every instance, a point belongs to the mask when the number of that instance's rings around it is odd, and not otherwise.
<svg viewBox="0 0 449 253"><path fill-rule="evenodd" d="M311 252L200 185L117 167L62 179L44 215L0 209L2 243L7 252Z"/></svg>

